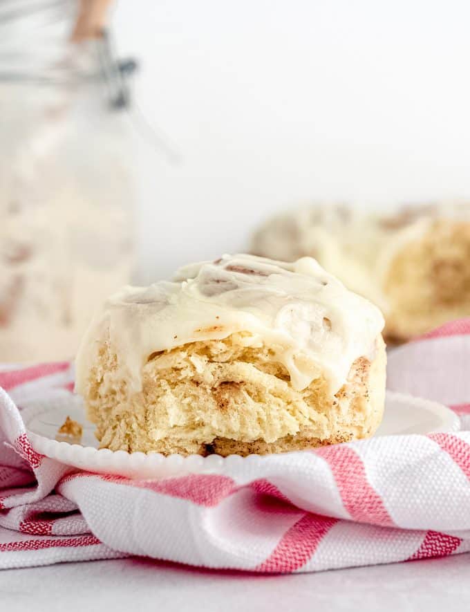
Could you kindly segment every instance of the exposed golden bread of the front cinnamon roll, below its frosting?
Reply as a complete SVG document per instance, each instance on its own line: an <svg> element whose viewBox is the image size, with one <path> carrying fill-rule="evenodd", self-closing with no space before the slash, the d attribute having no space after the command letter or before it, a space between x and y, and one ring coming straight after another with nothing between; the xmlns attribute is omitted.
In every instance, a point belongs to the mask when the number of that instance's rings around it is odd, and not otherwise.
<svg viewBox="0 0 470 612"><path fill-rule="evenodd" d="M385 351L359 358L332 398L321 376L303 391L267 346L245 334L152 353L142 391L128 393L118 358L101 342L86 384L101 447L163 454L283 452L372 435L384 409Z"/></svg>

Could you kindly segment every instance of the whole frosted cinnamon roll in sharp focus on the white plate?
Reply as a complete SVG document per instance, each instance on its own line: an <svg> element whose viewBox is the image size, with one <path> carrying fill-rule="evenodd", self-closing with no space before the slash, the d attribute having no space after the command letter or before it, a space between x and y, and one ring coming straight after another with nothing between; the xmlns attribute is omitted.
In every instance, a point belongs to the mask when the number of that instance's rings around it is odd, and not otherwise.
<svg viewBox="0 0 470 612"><path fill-rule="evenodd" d="M371 436L384 409L379 310L319 264L225 255L125 287L77 355L101 447L268 454Z"/></svg>

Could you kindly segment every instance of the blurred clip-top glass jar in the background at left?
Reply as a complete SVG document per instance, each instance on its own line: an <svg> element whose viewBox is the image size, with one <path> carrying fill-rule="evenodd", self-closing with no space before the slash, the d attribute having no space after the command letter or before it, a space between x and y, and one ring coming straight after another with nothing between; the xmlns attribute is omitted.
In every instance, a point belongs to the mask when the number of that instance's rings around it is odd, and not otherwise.
<svg viewBox="0 0 470 612"><path fill-rule="evenodd" d="M105 35L73 1L0 4L0 362L72 358L133 264L131 133Z"/></svg>

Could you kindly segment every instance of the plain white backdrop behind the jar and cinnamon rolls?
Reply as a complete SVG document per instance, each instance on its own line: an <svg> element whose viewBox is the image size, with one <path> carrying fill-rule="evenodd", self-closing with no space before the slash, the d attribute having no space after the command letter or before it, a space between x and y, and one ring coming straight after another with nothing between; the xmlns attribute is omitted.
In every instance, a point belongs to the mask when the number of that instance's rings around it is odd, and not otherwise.
<svg viewBox="0 0 470 612"><path fill-rule="evenodd" d="M182 156L139 147L138 278L306 201L469 196L469 24L467 0L121 0L135 101Z"/></svg>

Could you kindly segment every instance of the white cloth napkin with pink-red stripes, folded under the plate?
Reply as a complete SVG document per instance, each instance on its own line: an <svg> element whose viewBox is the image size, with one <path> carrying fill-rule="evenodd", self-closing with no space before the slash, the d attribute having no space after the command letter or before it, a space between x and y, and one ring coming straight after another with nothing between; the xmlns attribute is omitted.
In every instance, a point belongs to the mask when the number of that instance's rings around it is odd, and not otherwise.
<svg viewBox="0 0 470 612"><path fill-rule="evenodd" d="M388 386L443 402L462 432L387 436L250 461L226 474L130 480L32 449L21 408L73 367L0 373L0 568L147 555L307 572L470 551L470 319L389 355Z"/></svg>

